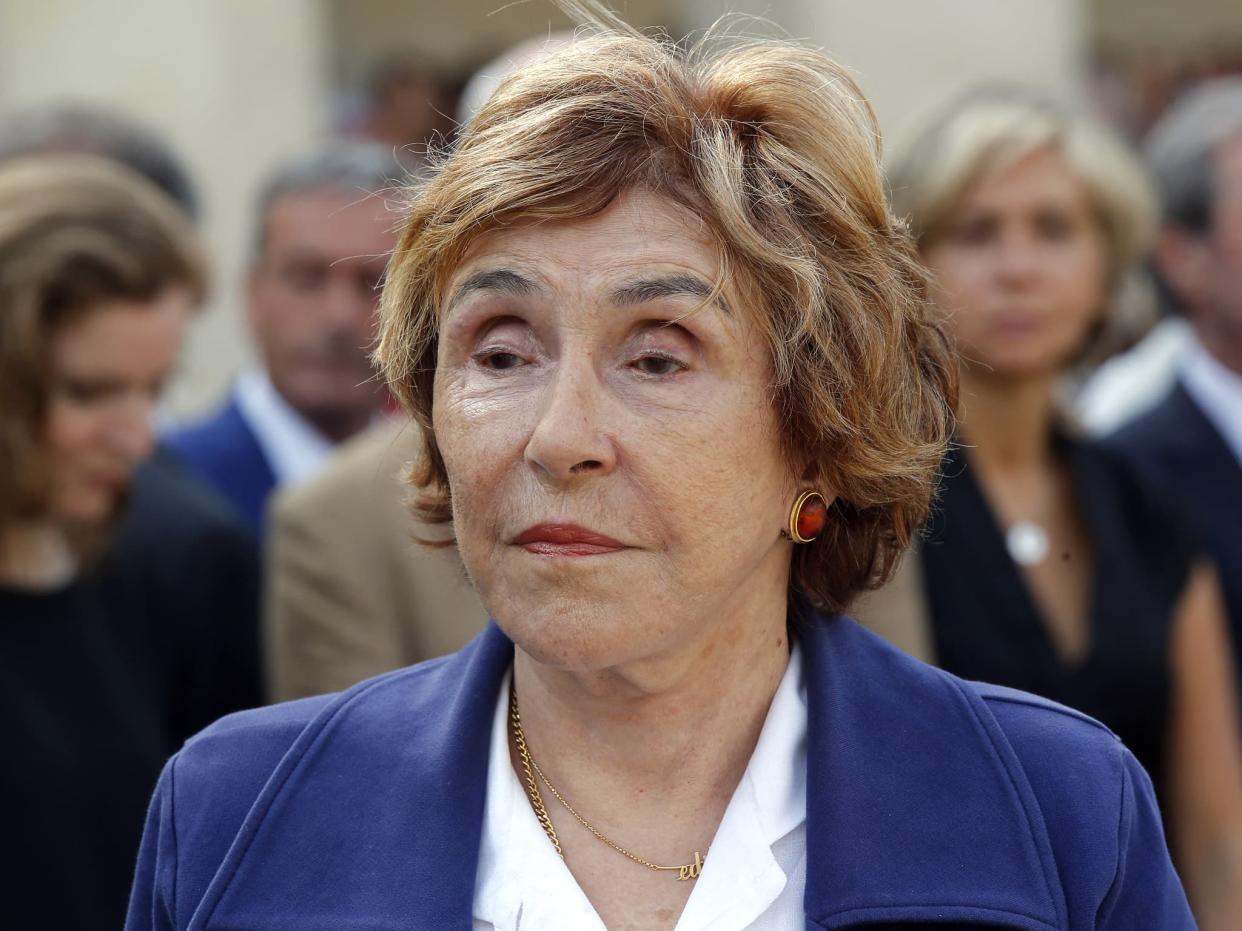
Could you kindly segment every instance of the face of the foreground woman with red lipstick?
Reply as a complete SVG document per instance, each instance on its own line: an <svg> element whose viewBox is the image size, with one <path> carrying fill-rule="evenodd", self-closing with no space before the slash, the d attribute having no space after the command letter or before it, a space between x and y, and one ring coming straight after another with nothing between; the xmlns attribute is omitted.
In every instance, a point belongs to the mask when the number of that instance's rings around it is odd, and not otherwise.
<svg viewBox="0 0 1242 931"><path fill-rule="evenodd" d="M753 308L728 289L696 309L719 269L696 217L638 191L488 233L450 281L432 417L455 530L542 662L601 669L784 612L794 475Z"/></svg>

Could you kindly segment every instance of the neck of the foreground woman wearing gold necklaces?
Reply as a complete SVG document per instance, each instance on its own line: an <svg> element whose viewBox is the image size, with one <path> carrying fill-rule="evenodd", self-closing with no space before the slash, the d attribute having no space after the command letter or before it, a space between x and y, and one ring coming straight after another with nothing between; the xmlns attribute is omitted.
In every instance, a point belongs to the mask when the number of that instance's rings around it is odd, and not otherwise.
<svg viewBox="0 0 1242 931"><path fill-rule="evenodd" d="M601 830L669 857L707 849L789 662L784 591L704 627L682 649L597 673L520 649L514 659L523 730L548 778Z"/></svg>

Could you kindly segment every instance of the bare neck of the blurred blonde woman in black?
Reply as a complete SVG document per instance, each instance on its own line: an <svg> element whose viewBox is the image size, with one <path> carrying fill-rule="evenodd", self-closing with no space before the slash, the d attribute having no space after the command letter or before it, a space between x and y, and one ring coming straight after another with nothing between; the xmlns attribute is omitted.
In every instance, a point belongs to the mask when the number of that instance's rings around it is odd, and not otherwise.
<svg viewBox="0 0 1242 931"><path fill-rule="evenodd" d="M961 374L960 431L971 446L971 462L984 469L1046 462L1054 413L1052 375L999 379L972 369Z"/></svg>

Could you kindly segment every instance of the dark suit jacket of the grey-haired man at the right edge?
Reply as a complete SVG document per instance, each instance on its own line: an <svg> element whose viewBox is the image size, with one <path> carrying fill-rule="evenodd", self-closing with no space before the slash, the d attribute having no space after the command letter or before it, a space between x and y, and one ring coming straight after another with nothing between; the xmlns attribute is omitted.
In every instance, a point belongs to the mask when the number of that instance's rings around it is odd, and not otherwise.
<svg viewBox="0 0 1242 931"><path fill-rule="evenodd" d="M1180 384L1105 442L1197 526L1220 570L1242 669L1242 463Z"/></svg>

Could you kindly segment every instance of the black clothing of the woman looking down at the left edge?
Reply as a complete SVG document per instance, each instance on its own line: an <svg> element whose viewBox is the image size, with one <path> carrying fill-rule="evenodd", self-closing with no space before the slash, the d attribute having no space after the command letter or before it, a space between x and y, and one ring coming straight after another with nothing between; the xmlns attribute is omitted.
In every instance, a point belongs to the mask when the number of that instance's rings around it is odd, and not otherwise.
<svg viewBox="0 0 1242 931"><path fill-rule="evenodd" d="M261 701L260 562L158 458L108 551L55 591L0 586L0 930L116 931L160 768Z"/></svg>

